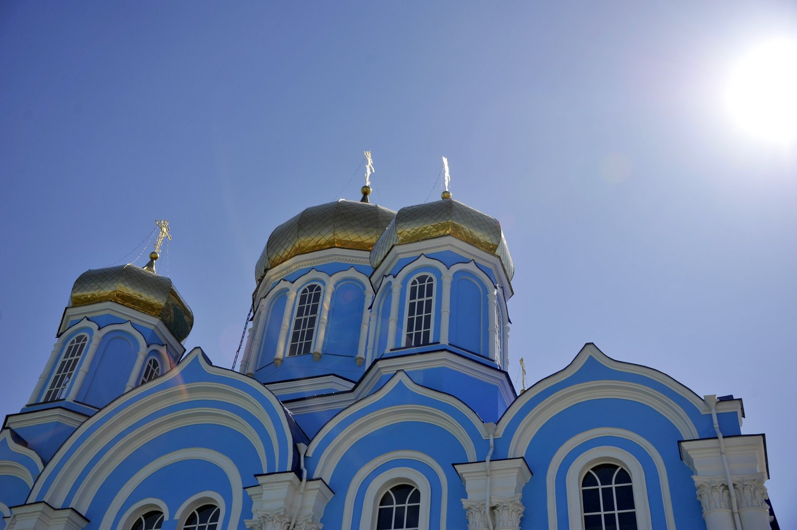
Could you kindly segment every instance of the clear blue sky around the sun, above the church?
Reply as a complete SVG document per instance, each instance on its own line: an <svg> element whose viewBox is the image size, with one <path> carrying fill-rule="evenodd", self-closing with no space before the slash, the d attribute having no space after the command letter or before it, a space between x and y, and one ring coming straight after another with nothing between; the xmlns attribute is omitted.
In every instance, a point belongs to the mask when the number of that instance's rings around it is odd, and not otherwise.
<svg viewBox="0 0 797 530"><path fill-rule="evenodd" d="M277 224L359 198L364 149L375 201L434 200L445 155L515 261L512 378L593 341L744 398L797 526L797 146L722 104L745 49L797 34L795 3L430 3L2 2L0 412L77 276L155 219L186 346L229 367Z"/></svg>

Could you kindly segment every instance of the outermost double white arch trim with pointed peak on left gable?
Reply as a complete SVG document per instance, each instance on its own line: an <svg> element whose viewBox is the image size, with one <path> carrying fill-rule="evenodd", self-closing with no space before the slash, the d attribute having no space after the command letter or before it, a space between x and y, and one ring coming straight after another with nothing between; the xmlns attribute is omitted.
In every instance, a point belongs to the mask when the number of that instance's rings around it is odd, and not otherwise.
<svg viewBox="0 0 797 530"><path fill-rule="evenodd" d="M281 403L277 400L277 398L273 395L272 392L269 392L263 385L258 384L256 380L253 380L251 377L247 377L238 372L234 372L232 370L226 370L223 368L215 368L214 366L207 364L206 361L203 359L202 349L194 348L191 352L186 356L183 361L181 361L177 368L167 372L164 376L160 376L157 381L158 384L166 384L168 380L171 380L174 377L179 377L180 373L183 372L183 368L188 366L191 362L199 362L202 364L202 368L206 370L206 372L215 373L216 375L220 376L227 376L238 379L239 381L247 384L250 388L253 389L254 392L261 394L265 397L267 401L273 404L275 407L275 411L277 415L279 415L281 419L281 431L284 433L290 432L290 427L288 425L288 420L285 417L284 409L281 406ZM260 403L257 402L257 399L246 394L244 391L238 391L237 394L233 394L230 391L232 387L229 384L218 384L218 383L192 383L192 384L183 384L175 388L169 388L167 391L163 392L156 392L151 396L147 396L146 399L142 399L138 403L132 403L132 405L125 410L123 415L117 414L118 411L125 407L125 403L132 401L136 397L139 396L142 392L146 392L150 385L143 385L133 388L130 392L125 393L121 396L117 401L112 403L112 406L105 407L104 409L97 412L91 418L87 419L84 423L77 428L69 438L67 438L66 442L57 450L57 453L53 456L53 459L50 460L49 465L44 470L43 473L38 477L36 483L33 485L33 489L30 493L30 500L34 500L37 496L41 493L42 485L45 483L47 478L53 474L58 473L58 477L56 481L65 480L63 484L70 485L77 479L77 475L80 474L82 468L81 465L85 465L92 458L91 450L88 449L88 445L92 447L97 446L97 444L105 445L107 444L114 436L119 435L121 431L124 430L125 427L128 425L135 423L139 419L143 419L147 415L158 411L164 407L168 407L175 403L183 403L186 400L186 396L190 393L192 398L195 399L216 399L222 400L226 403L234 403L240 407L245 407L246 410L249 410L253 413L257 411L261 411L265 414L261 414L258 419L261 420L261 423L264 427L269 431L269 436L273 439L273 447L275 458L277 462L275 464L277 466L280 465L281 462L281 454L279 452L279 445L277 444L276 438L276 431L275 426L273 425L272 420L269 418L268 411L265 411L263 407L261 407ZM234 399L234 396L237 396L239 399ZM63 458L65 458L65 454L71 450L72 446L76 442L80 442L82 435L88 429L92 428L96 423L103 421L106 417L110 417L108 423L104 426L103 429L98 431L97 440L92 440L92 444L85 444L82 443L78 448L76 454L69 458L69 463L67 466L70 470L66 469L65 466L64 470L58 470L58 464L61 462ZM81 456L82 455L82 456ZM291 462L293 458L293 444L287 444L287 454L283 457L285 458L286 462ZM76 464L76 461L79 460L80 464ZM58 470L58 471L56 471ZM77 473L77 474L76 474ZM69 475L69 477L64 477L65 475ZM71 480L71 481L70 481ZM65 489L69 489L69 486L65 486ZM53 488L48 489L49 492L53 491ZM51 503L52 504L52 503Z"/></svg>

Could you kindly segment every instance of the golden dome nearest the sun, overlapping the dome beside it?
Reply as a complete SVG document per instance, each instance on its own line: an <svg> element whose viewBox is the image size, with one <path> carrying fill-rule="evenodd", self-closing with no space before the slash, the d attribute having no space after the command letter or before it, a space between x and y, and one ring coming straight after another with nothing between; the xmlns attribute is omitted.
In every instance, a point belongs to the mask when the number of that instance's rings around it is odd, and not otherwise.
<svg viewBox="0 0 797 530"><path fill-rule="evenodd" d="M497 256L501 259L508 278L512 279L515 274L512 257L498 220L451 198L398 210L395 219L371 251L371 267L379 267L394 245L441 236L456 237Z"/></svg>

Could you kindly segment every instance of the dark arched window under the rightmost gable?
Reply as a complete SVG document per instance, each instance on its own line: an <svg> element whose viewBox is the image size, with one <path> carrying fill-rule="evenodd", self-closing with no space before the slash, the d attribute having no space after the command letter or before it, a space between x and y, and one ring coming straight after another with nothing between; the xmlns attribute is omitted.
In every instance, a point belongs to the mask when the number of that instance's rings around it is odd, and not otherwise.
<svg viewBox="0 0 797 530"><path fill-rule="evenodd" d="M631 476L617 464L599 464L581 481L584 530L637 530Z"/></svg>

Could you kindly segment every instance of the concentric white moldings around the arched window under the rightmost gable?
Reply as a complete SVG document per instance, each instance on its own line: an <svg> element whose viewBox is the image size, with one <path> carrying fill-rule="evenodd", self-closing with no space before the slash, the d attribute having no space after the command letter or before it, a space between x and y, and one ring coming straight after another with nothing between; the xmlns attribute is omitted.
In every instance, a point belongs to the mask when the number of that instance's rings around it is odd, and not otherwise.
<svg viewBox="0 0 797 530"><path fill-rule="evenodd" d="M559 528L558 522L556 520L556 475L559 473L559 467L561 466L564 458L567 457L567 455L570 454L572 450L575 450L575 448L577 448L584 442L587 442L595 438L601 438L604 436L614 436L616 438L624 438L626 440L630 440L631 442L636 443L642 450L644 450L650 456L650 459L653 460L654 465L656 466L659 486L662 489L662 505L664 506L664 514L665 514L665 520L667 522L667 530L675 530L676 526L675 526L675 515L673 513L673 503L669 495L669 479L667 478L667 468L665 466L662 455L658 453L658 450L656 450L653 444L648 442L646 438L642 438L642 436L637 435L634 432L626 431L625 429L617 429L614 427L601 427L598 429L583 431L582 433L579 433L578 435L575 435L569 440L567 440L567 442L564 442L562 446L559 447L559 450L556 451L556 454L554 454L553 458L551 459L551 462L548 464L548 473L545 477L545 485L546 489L548 490L549 530L557 530L557 528ZM603 450L603 452L602 453L595 452L597 450ZM614 451L614 453L612 451ZM590 459L598 460L606 456L614 455L614 457L616 457L618 454L617 451L620 450L611 446L596 447L594 449L585 451L579 458L583 457L584 462L587 462ZM642 466L639 464L638 460L636 460L636 458L633 457L633 455L630 455L625 451L623 451L623 453L632 458L634 462L636 462L636 465L638 465L640 469L642 469ZM623 458L618 458L618 460L626 462L626 460L624 460ZM583 468L587 466L587 463L582 463L579 467L576 465L577 462L579 462L579 460L576 460L576 462L573 462L571 464L571 467L568 469L567 473L571 473L571 470L574 470L576 468L577 470L583 470ZM628 462L630 462L630 460L628 460L626 463ZM632 483L636 485L637 481L635 480L634 473L631 473L631 477L632 477ZM642 493L639 493L639 495L638 495L638 490L634 489L634 502L642 500L642 498L644 499L647 510L646 524L648 525L647 528L651 528L652 523L650 519L650 508L648 504L648 497L647 497L648 493L646 488L646 482L644 482L644 471L642 471L641 477L643 479L641 485L644 486L644 488L642 490ZM568 518L570 519L570 528L573 528L574 524L574 519L572 516L573 513L572 510L574 508L571 505L571 498L572 498L571 496L573 495L573 492L571 489L573 487L575 487L575 489L580 488L581 485L581 481L579 480L580 478L581 476L575 479L575 486L573 485L573 481L571 481L570 474L567 474L565 479L567 485L567 507L568 507ZM576 526L575 528L579 528L579 530L581 530L582 519L581 519L580 492L575 493L575 504L577 505L576 510L578 513L578 515L575 518L575 521L577 521L578 526ZM637 507L637 510L639 509L640 508ZM642 522L643 521L639 520L638 518L638 524L642 524Z"/></svg>

